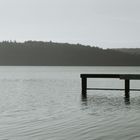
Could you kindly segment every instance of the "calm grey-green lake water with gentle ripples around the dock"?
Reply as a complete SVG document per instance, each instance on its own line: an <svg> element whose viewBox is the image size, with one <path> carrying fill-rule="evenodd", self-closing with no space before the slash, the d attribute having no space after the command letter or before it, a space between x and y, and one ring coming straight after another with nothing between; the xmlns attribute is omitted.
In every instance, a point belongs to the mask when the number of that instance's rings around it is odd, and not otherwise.
<svg viewBox="0 0 140 140"><path fill-rule="evenodd" d="M139 140L140 93L88 91L80 73L138 73L140 67L0 67L0 140ZM88 87L123 88L119 79ZM140 81L132 81L140 88Z"/></svg>

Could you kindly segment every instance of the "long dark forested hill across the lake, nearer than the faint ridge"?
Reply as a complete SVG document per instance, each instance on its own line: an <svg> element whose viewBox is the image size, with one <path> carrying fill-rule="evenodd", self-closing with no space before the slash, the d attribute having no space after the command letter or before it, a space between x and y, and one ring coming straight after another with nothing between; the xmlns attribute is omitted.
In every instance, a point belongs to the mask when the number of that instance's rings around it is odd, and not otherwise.
<svg viewBox="0 0 140 140"><path fill-rule="evenodd" d="M140 66L140 55L80 44L0 42L0 65Z"/></svg>

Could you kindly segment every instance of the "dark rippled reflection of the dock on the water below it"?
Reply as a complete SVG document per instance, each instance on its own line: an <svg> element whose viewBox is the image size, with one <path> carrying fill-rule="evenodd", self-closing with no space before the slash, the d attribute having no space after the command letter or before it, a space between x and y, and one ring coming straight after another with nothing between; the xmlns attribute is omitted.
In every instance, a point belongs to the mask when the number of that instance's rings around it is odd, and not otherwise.
<svg viewBox="0 0 140 140"><path fill-rule="evenodd" d="M106 111L109 112L120 112L125 109L130 109L130 111L138 111L140 109L140 96L139 92L131 92L132 97L125 97L123 92L118 93L106 93L106 92L94 91L93 94L87 95L87 97L81 96L81 105L83 110L88 110L89 112L94 111ZM99 113L99 112L98 112Z"/></svg>

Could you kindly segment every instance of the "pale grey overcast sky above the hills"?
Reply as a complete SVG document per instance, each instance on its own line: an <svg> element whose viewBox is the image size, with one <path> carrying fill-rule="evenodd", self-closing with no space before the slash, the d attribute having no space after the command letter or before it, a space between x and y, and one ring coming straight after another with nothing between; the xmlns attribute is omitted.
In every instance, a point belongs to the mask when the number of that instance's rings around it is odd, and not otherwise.
<svg viewBox="0 0 140 140"><path fill-rule="evenodd" d="M140 0L0 0L0 41L140 47Z"/></svg>

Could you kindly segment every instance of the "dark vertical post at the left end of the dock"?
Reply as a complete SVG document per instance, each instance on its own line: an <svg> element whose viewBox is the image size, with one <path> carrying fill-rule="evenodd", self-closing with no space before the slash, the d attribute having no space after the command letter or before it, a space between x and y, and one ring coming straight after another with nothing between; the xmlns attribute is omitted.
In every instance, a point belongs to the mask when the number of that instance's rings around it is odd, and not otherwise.
<svg viewBox="0 0 140 140"><path fill-rule="evenodd" d="M87 97L87 78L82 77L82 97Z"/></svg>

